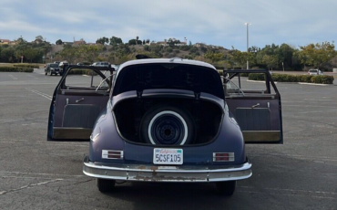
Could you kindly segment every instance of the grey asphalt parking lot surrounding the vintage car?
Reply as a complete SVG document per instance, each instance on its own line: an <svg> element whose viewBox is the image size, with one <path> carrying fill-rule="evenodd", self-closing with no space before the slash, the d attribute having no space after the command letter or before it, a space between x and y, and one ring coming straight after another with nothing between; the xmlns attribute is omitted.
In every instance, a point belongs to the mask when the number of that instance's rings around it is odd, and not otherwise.
<svg viewBox="0 0 337 210"><path fill-rule="evenodd" d="M277 84L284 144L247 145L253 175L226 198L213 184L125 183L99 193L82 173L88 142L46 142L59 79L43 69L0 73L1 209L337 209L336 85Z"/></svg>

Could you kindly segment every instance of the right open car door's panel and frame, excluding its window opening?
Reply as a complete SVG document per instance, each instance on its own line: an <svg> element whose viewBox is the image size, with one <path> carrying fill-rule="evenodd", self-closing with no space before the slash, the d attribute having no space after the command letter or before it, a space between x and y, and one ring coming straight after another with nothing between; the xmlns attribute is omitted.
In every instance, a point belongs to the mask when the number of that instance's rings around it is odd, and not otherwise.
<svg viewBox="0 0 337 210"><path fill-rule="evenodd" d="M251 72L257 73L256 70ZM241 90L242 94L227 91L226 103L240 125L246 143L282 143L280 93L269 72L259 72L266 74L266 86L269 87L264 90ZM242 72L236 70L235 73ZM275 90L274 94L271 94L271 88Z"/></svg>

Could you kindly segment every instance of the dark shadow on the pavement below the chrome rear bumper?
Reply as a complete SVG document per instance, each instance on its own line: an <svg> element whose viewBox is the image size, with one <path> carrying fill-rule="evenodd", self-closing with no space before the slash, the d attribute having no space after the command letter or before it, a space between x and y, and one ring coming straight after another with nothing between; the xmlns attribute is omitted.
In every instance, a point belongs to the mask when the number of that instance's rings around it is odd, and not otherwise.
<svg viewBox="0 0 337 210"><path fill-rule="evenodd" d="M217 194L212 183L117 184L115 192L107 195L133 203L133 209L223 209L239 199L235 193L232 197Z"/></svg>

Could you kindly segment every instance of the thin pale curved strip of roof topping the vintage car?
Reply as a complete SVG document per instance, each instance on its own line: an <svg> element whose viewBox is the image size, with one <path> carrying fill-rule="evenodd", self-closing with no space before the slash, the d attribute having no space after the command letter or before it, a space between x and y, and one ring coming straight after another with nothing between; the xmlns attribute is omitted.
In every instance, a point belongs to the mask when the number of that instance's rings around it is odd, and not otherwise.
<svg viewBox="0 0 337 210"><path fill-rule="evenodd" d="M148 58L148 59L135 59L129 60L123 64L121 64L117 71L117 76L123 68L128 66L138 65L138 64L161 64L161 63L172 63L172 64L186 64L186 65L195 65L199 67L207 67L213 68L217 70L214 66L210 65L209 63L205 63L199 60L191 60L191 59L183 59L183 58Z"/></svg>

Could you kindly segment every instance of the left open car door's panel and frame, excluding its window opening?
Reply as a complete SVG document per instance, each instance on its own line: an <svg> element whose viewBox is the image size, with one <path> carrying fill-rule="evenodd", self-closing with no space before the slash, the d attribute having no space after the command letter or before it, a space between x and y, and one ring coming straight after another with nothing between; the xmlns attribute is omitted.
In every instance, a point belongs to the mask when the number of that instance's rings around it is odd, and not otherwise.
<svg viewBox="0 0 337 210"><path fill-rule="evenodd" d="M71 66L69 67L71 68ZM76 67L82 68L82 67ZM88 68L88 67L86 67ZM107 69L113 68L94 68ZM66 70L66 74L70 69ZM48 123L48 141L74 141L89 140L93 126L100 112L106 108L109 99L109 87L99 89L95 87L77 87L77 89L67 89L65 85L66 74L54 92ZM94 76L92 76L94 77ZM95 77L102 77L99 74ZM110 83L111 87L111 83Z"/></svg>

